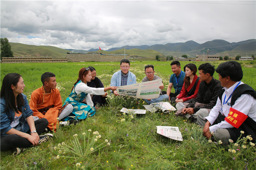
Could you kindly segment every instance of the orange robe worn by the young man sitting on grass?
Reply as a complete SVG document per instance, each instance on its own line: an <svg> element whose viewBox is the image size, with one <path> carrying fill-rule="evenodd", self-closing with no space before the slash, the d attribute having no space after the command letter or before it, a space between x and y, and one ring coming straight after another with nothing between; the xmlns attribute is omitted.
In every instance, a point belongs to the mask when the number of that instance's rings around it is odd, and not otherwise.
<svg viewBox="0 0 256 170"><path fill-rule="evenodd" d="M51 93L45 94L45 90L42 86L33 91L29 105L30 109L34 112L33 116L37 116L39 119L46 118L49 122L48 128L50 130L54 128L56 132L58 112L62 107L60 91L58 89L52 89ZM42 113L38 111L47 107L52 108Z"/></svg>

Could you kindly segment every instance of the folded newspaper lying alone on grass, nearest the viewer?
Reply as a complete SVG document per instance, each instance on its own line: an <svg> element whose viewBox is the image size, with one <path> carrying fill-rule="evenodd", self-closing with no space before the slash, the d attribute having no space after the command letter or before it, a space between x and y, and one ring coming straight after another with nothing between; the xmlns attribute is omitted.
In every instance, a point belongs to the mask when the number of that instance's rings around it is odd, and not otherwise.
<svg viewBox="0 0 256 170"><path fill-rule="evenodd" d="M178 127L174 126L156 126L157 133L176 141L183 141L181 132Z"/></svg>

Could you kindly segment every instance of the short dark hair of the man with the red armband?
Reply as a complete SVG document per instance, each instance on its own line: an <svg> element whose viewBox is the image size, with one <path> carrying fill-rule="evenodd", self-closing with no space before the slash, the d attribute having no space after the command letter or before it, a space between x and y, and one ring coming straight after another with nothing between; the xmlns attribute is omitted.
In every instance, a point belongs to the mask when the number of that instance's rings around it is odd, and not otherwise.
<svg viewBox="0 0 256 170"><path fill-rule="evenodd" d="M217 68L216 72L221 75L222 78L229 76L233 81L240 81L243 78L242 67L239 62L227 61L221 63Z"/></svg>

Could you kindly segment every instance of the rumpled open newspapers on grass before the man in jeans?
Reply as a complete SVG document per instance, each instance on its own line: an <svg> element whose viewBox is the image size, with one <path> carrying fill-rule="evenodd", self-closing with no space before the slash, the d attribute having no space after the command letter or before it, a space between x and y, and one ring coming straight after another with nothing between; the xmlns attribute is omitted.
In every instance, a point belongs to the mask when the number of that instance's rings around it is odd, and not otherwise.
<svg viewBox="0 0 256 170"><path fill-rule="evenodd" d="M164 113L176 111L176 108L174 108L169 102L151 103L150 105L143 106L150 112L156 112L159 109Z"/></svg>

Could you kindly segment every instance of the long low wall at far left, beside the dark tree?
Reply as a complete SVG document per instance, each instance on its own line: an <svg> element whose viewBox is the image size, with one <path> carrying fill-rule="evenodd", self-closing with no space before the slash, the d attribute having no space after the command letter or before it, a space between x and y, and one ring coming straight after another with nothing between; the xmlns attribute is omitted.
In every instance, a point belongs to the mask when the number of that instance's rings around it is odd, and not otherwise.
<svg viewBox="0 0 256 170"><path fill-rule="evenodd" d="M52 57L3 57L2 63L25 62L67 62L67 59L52 59Z"/></svg>

